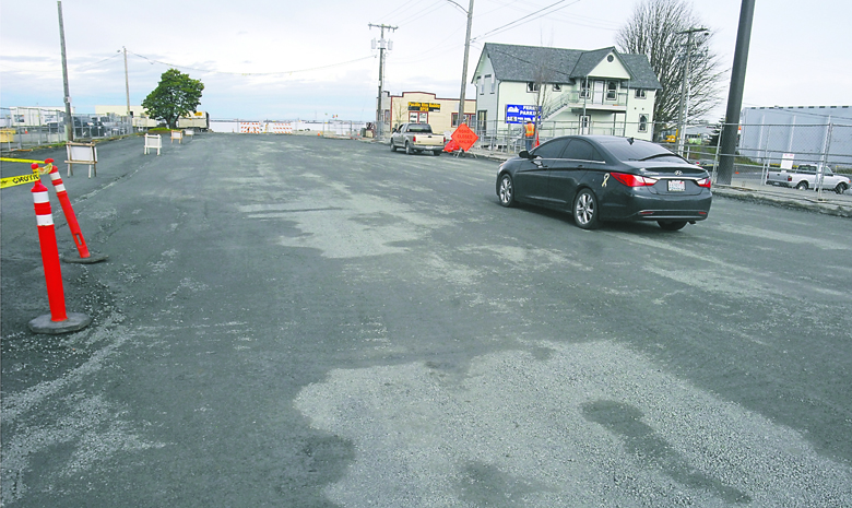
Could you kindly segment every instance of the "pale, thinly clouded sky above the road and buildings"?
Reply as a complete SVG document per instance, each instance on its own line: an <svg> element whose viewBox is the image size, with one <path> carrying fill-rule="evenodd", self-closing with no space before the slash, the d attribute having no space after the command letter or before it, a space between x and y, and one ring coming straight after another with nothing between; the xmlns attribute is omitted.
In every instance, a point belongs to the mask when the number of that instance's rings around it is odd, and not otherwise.
<svg viewBox="0 0 852 508"><path fill-rule="evenodd" d="M470 84L485 43L599 49L641 0L474 0ZM380 28L384 90L457 98L470 0L63 0L69 88L76 113L131 105L169 68L204 83L213 119L370 120L376 116ZM695 0L712 49L733 66L741 0ZM845 106L852 66L848 0L756 0L744 107ZM513 23L514 22L514 23ZM508 25L508 26L507 26ZM63 108L56 0L0 0L0 106ZM730 73L720 105L724 116Z"/></svg>

